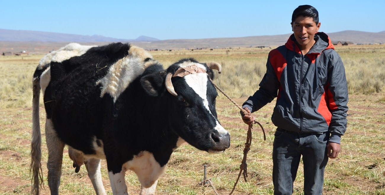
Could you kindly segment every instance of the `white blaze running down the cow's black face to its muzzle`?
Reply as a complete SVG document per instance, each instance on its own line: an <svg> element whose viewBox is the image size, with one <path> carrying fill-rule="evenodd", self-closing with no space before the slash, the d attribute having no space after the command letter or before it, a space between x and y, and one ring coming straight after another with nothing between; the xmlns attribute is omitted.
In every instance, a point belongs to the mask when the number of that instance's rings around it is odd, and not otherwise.
<svg viewBox="0 0 385 195"><path fill-rule="evenodd" d="M182 63L180 66L184 67L187 63ZM199 63L188 63L188 66L196 65L199 68L205 69L205 67L202 64ZM208 76L206 73L197 73L197 74L188 74L183 77L187 83L188 86L190 86L196 94L199 95L203 99L203 105L209 111L210 115L214 117L216 126L214 127L215 130L219 132L221 135L228 134L228 131L226 131L218 122L214 114L210 111L209 108L209 102L207 100L207 83L208 83Z"/></svg>

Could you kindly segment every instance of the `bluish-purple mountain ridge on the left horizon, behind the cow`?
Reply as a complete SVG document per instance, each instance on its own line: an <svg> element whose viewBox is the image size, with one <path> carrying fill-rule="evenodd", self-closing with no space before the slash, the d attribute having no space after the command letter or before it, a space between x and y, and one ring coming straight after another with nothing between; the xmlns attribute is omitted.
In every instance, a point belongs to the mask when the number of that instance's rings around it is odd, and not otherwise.
<svg viewBox="0 0 385 195"><path fill-rule="evenodd" d="M28 30L6 30L0 29L0 41L42 41L42 42L148 42L159 41L159 39L139 36L137 39L118 39L101 35L73 35L65 33L50 33Z"/></svg>

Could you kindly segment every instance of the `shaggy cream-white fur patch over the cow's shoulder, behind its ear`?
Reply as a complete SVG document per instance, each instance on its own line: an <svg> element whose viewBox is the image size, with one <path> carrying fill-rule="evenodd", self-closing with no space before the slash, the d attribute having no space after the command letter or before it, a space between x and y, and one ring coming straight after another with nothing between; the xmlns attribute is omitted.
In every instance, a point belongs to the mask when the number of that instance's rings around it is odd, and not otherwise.
<svg viewBox="0 0 385 195"><path fill-rule="evenodd" d="M148 58L152 59L152 56L142 48L131 46L128 54L128 56L112 64L108 73L96 82L96 85L102 85L100 97L108 93L114 98L115 102L127 86L142 74L147 66L152 64L152 61L146 63L145 60Z"/></svg>

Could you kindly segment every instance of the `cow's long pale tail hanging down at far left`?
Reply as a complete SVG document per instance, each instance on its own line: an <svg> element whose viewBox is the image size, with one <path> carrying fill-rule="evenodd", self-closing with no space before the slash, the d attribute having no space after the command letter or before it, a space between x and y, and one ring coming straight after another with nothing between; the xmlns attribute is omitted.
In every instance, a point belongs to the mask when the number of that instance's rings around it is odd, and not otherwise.
<svg viewBox="0 0 385 195"><path fill-rule="evenodd" d="M40 99L40 75L36 75L33 80L33 99L32 99L32 142L31 142L31 164L30 174L32 172L32 194L39 194L39 188L43 183L42 173L42 135L40 133L40 117L39 117L39 99Z"/></svg>

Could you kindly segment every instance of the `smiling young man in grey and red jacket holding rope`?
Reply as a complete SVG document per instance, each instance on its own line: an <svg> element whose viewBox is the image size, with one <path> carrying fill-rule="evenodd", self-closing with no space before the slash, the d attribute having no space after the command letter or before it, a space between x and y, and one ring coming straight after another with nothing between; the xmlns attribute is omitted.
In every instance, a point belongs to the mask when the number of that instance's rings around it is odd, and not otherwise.
<svg viewBox="0 0 385 195"><path fill-rule="evenodd" d="M270 51L259 89L243 104L248 112L261 109L275 97L271 121L277 126L273 143L275 194L292 194L301 155L305 194L322 194L328 158L340 152L346 131L348 91L340 56L325 33L318 32L318 11L296 8L293 34ZM242 114L241 114L242 115ZM254 116L243 116L246 124Z"/></svg>

